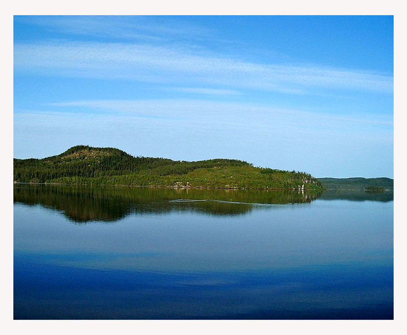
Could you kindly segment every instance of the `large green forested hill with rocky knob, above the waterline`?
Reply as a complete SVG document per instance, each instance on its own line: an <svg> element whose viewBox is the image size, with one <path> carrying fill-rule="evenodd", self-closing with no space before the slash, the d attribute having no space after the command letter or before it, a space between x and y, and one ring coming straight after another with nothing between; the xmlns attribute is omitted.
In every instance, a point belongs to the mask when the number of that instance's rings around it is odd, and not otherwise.
<svg viewBox="0 0 407 335"><path fill-rule="evenodd" d="M75 146L43 159L14 159L14 181L88 185L322 189L303 172L254 167L236 159L174 161L114 148Z"/></svg>

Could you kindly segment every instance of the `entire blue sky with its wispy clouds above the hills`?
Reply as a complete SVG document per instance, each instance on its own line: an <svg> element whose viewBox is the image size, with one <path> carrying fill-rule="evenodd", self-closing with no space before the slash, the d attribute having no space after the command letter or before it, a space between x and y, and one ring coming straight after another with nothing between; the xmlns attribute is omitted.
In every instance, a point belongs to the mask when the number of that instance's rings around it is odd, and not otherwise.
<svg viewBox="0 0 407 335"><path fill-rule="evenodd" d="M15 16L14 157L393 178L392 16Z"/></svg>

